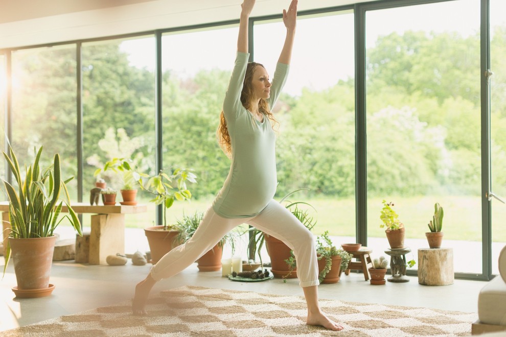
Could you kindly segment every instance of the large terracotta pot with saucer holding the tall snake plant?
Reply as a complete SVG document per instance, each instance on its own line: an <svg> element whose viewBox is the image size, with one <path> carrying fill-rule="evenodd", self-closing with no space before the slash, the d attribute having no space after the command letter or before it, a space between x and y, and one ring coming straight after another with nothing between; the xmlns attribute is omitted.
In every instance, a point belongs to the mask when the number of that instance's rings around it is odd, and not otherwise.
<svg viewBox="0 0 506 337"><path fill-rule="evenodd" d="M9 237L11 257L17 280L17 290L43 291L49 288L49 276L51 275L55 242L56 236L54 235L37 238ZM33 293L37 294L37 292ZM23 297L40 297L40 295Z"/></svg>

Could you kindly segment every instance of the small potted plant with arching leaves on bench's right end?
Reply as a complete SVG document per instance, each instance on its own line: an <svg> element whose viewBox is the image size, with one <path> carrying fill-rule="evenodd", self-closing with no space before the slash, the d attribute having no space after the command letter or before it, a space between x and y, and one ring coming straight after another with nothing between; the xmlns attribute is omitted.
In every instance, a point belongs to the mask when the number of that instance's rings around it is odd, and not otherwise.
<svg viewBox="0 0 506 337"><path fill-rule="evenodd" d="M133 161L129 158L112 158L104 164L104 167L98 168L95 171L95 176L98 176L102 172L112 170L121 176L123 186L120 190L123 201L120 202L122 205L136 205L137 185L141 181L142 177L148 177L144 173L137 172L132 167Z"/></svg>

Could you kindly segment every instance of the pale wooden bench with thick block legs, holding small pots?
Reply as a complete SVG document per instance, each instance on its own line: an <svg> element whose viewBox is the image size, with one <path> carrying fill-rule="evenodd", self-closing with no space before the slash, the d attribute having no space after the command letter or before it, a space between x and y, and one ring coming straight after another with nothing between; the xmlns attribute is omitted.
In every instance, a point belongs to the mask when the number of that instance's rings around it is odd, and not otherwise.
<svg viewBox="0 0 506 337"><path fill-rule="evenodd" d="M143 213L147 211L146 205L89 205L73 203L72 209L76 213L91 213L91 231L89 237L89 264L106 263L107 255L116 255L125 251L125 214ZM67 212L62 207L62 212ZM2 212L4 249L7 247L7 228L9 224L9 203L0 203ZM4 252L5 253L5 252Z"/></svg>

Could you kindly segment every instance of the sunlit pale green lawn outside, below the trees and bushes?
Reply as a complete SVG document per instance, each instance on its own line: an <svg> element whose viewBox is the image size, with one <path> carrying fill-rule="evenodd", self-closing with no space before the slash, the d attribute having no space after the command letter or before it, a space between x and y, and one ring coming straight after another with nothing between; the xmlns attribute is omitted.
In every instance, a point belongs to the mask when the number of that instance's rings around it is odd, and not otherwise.
<svg viewBox="0 0 506 337"><path fill-rule="evenodd" d="M294 199L297 200L297 199ZM384 229L379 225L380 198L369 199L367 205L367 232L370 237L384 236ZM330 235L355 236L355 200L314 198L305 200L314 206L314 218L317 224L313 233L318 235L328 230ZM439 202L444 210L443 232L445 239L453 240L481 240L481 206L479 197L395 197L388 199L395 203L394 209L399 214L399 220L404 223L406 236L409 238L425 238L428 231L427 223L432 219L434 203ZM152 203L141 201L148 205L148 212L141 214L126 214L126 226L145 228L153 225L155 207ZM192 200L191 202L176 202L169 209L168 222L172 223L185 212L196 210L205 211L210 207L212 199ZM492 239L495 242L506 242L506 227L500 226L500 219L506 219L506 206L493 204ZM85 216L84 225L89 226L89 216ZM495 220L495 222L494 222Z"/></svg>

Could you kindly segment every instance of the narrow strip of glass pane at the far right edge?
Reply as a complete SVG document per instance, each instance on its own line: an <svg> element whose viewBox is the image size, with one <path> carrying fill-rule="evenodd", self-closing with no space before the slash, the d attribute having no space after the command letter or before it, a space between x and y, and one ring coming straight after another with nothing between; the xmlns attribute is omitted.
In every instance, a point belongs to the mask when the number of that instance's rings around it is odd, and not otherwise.
<svg viewBox="0 0 506 337"><path fill-rule="evenodd" d="M503 13L506 3L501 0L490 2L491 63L491 149L492 191L506 201L506 19ZM506 205L492 199L492 273L499 274L498 258L506 245Z"/></svg>

